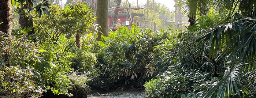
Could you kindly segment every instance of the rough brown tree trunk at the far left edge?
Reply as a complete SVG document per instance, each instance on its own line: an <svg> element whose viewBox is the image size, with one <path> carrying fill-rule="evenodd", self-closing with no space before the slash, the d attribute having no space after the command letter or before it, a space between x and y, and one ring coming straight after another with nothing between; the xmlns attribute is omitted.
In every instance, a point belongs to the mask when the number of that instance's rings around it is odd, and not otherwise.
<svg viewBox="0 0 256 98"><path fill-rule="evenodd" d="M0 31L11 35L11 0L0 0ZM0 33L2 35L3 33Z"/></svg>

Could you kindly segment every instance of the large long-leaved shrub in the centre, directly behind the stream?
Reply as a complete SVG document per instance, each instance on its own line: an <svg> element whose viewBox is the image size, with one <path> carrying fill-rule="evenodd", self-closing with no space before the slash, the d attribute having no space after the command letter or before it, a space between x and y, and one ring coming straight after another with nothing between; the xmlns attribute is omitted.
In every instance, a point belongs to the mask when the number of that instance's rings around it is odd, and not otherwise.
<svg viewBox="0 0 256 98"><path fill-rule="evenodd" d="M151 29L136 29L136 25L131 30L120 27L119 31L110 32L109 37L102 36L103 41L97 42L94 49L100 76L93 81L99 83L93 83L105 85L100 82L104 80L110 87L141 87L151 79L146 75L145 66L150 62L153 46L159 45L163 36L162 32Z"/></svg>

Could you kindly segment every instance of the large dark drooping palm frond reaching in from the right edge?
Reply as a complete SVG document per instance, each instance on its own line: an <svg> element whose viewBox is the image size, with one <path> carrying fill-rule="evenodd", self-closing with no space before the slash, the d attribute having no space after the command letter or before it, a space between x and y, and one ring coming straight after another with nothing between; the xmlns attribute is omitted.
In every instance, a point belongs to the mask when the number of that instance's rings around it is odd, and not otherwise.
<svg viewBox="0 0 256 98"><path fill-rule="evenodd" d="M217 51L225 50L228 54L233 53L232 60L239 57L240 61L252 61L256 57L256 19L242 18L227 23L185 44L190 47L201 41L211 46L209 58L216 56Z"/></svg>

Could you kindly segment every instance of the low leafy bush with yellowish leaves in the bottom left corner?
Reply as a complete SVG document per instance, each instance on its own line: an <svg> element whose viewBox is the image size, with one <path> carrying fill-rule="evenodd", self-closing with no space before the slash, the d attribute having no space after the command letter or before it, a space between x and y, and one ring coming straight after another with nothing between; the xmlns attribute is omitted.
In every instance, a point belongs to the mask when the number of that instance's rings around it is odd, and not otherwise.
<svg viewBox="0 0 256 98"><path fill-rule="evenodd" d="M46 92L40 83L33 80L38 78L34 68L27 66L6 67L0 64L0 97L1 98L28 98L40 97Z"/></svg>

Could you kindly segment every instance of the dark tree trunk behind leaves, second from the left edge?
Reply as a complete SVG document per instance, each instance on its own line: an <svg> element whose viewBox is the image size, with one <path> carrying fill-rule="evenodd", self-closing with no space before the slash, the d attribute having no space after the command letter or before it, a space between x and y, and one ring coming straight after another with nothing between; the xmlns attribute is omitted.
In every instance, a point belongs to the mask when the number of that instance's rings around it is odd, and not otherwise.
<svg viewBox="0 0 256 98"><path fill-rule="evenodd" d="M21 28L24 29L25 27L32 27L32 30L28 32L28 35L35 34L34 26L33 26L33 20L31 17L26 16L26 12L24 9L27 9L28 7L31 7L30 4L24 3L26 6L21 4L21 12L19 14L19 24L21 24ZM29 8L28 8L29 9ZM32 39L34 42L36 42L36 38Z"/></svg>

